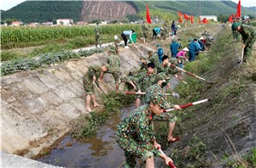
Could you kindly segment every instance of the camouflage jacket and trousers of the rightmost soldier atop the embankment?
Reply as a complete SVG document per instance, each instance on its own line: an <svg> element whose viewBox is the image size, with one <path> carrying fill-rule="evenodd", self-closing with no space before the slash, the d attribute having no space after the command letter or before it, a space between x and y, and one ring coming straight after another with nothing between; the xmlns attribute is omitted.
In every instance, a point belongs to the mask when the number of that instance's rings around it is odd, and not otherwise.
<svg viewBox="0 0 256 168"><path fill-rule="evenodd" d="M252 55L253 43L256 40L255 31L252 26L241 24L241 31L239 32L242 36L243 44L246 45L244 48L244 60L246 60Z"/></svg>

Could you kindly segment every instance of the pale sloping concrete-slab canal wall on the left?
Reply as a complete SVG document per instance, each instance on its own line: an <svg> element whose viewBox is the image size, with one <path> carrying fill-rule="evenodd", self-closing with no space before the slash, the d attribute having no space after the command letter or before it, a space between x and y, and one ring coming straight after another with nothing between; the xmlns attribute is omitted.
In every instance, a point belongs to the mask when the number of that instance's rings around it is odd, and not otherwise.
<svg viewBox="0 0 256 168"><path fill-rule="evenodd" d="M135 70L139 57L156 44L120 48L121 71ZM167 51L167 49L166 49ZM70 131L70 121L86 114L82 76L90 65L106 62L108 53L52 64L47 69L23 71L1 77L1 151L28 158L42 153ZM114 90L113 76L103 78L104 92ZM101 103L101 91L96 99ZM122 85L120 86L120 89Z"/></svg>

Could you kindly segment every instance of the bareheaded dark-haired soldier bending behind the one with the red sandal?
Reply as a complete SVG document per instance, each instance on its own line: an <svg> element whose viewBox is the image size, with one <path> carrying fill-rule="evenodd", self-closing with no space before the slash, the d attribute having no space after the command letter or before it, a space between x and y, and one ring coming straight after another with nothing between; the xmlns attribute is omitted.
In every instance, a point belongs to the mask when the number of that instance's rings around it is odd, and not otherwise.
<svg viewBox="0 0 256 168"><path fill-rule="evenodd" d="M155 73L154 73L154 63L148 63L148 70L141 73L137 79L137 90L138 92L145 92L148 87L154 85L155 83ZM138 107L141 101L144 99L144 95L137 95L135 106Z"/></svg>

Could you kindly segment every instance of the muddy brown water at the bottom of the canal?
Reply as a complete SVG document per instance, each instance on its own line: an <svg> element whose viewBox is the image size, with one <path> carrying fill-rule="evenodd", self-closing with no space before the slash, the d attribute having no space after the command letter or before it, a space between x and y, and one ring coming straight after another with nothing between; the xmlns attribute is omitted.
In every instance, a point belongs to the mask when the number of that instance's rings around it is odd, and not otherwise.
<svg viewBox="0 0 256 168"><path fill-rule="evenodd" d="M121 109L97 131L96 136L83 143L73 141L68 135L56 149L38 161L63 167L119 167L125 160L125 154L115 141L117 125L132 109L135 109L134 104Z"/></svg>

